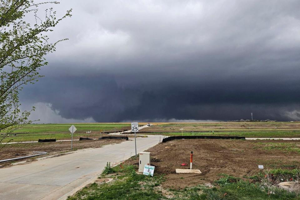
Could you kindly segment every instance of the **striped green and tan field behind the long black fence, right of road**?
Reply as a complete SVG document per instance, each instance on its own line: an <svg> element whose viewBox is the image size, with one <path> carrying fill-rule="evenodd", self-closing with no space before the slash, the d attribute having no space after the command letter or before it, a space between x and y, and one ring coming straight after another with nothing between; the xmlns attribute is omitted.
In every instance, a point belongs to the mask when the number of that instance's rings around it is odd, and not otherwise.
<svg viewBox="0 0 300 200"><path fill-rule="evenodd" d="M257 138L299 138L297 122L165 123L144 128L142 133L174 135L228 135ZM183 132L183 133L182 133Z"/></svg>

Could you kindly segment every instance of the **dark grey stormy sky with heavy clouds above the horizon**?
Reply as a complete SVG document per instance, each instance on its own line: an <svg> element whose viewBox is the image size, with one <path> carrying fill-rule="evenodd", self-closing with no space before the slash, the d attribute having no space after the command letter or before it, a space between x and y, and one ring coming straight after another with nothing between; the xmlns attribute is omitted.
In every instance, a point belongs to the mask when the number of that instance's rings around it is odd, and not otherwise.
<svg viewBox="0 0 300 200"><path fill-rule="evenodd" d="M298 0L60 2L33 120L300 120Z"/></svg>

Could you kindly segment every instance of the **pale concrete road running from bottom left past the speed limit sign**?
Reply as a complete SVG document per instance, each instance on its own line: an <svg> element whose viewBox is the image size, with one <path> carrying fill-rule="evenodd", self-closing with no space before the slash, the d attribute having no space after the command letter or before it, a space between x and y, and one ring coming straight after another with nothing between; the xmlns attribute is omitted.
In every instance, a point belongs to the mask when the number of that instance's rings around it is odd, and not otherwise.
<svg viewBox="0 0 300 200"><path fill-rule="evenodd" d="M158 144L160 136L137 138L137 153ZM1 200L66 199L85 184L93 182L107 162L119 163L135 155L134 138L0 169Z"/></svg>

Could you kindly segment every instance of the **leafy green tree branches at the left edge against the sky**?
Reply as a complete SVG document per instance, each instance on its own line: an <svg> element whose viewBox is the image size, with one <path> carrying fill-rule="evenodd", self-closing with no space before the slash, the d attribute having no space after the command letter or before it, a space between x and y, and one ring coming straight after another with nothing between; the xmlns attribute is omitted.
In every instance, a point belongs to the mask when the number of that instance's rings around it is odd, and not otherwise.
<svg viewBox="0 0 300 200"><path fill-rule="evenodd" d="M28 116L34 110L21 111L19 92L26 84L34 84L39 70L47 65L45 55L55 51L47 32L53 31L61 20L71 16L71 10L56 18L53 8L38 14L41 6L58 2L36 3L33 0L0 0L0 143L9 133L32 121ZM34 22L31 25L24 21Z"/></svg>

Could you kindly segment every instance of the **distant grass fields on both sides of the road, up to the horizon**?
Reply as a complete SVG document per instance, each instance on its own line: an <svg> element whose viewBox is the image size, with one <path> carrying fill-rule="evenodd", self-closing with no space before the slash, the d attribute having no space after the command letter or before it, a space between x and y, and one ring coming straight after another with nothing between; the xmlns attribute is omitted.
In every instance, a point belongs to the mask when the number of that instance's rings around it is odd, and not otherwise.
<svg viewBox="0 0 300 200"><path fill-rule="evenodd" d="M144 125L146 123L139 123ZM153 123L153 127L141 130L150 132L147 134L161 134L167 136L182 135L228 135L257 138L299 138L300 123L290 122L252 122L252 123ZM57 140L71 139L68 128L72 124L30 124L16 130L14 133L26 133L10 135L2 142L37 141L38 139L56 138ZM77 123L74 124L77 131L74 139L82 137L97 138L100 132L114 132L130 129L130 123ZM92 131L92 133L86 133ZM192 133L194 131L194 133ZM29 133L27 133L29 132Z"/></svg>

